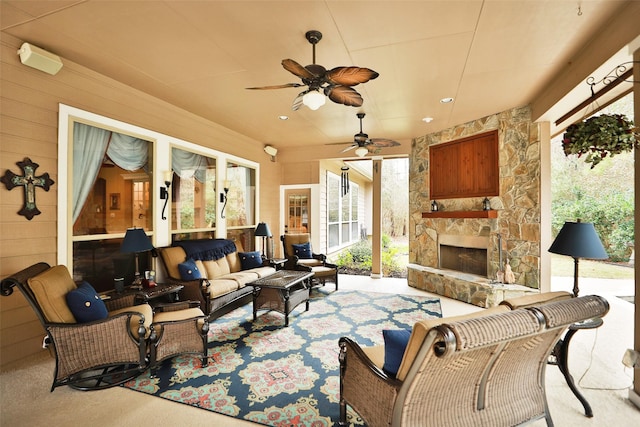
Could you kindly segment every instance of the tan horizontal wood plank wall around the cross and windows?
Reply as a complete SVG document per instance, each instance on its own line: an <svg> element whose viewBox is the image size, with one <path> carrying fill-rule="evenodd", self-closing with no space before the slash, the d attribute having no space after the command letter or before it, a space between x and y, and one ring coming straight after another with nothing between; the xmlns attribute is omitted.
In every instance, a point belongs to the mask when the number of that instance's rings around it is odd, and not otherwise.
<svg viewBox="0 0 640 427"><path fill-rule="evenodd" d="M59 103L259 162L260 217L277 223L280 164L271 162L263 152L264 143L65 58L62 70L55 76L29 68L16 55L22 40L3 34L0 43L0 173L6 169L17 173L15 163L29 157L40 165L37 172L49 172L55 181L49 192L36 190L42 214L31 221L16 213L22 206L21 190L8 191L0 186L1 277L38 261L56 263ZM44 331L19 292L0 297L0 366L44 351L43 336Z"/></svg>

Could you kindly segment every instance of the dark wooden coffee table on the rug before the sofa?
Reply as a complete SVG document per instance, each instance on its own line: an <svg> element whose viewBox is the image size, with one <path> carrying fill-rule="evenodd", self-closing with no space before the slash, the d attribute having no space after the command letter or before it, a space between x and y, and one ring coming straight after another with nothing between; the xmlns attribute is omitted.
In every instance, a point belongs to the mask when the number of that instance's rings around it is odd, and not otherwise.
<svg viewBox="0 0 640 427"><path fill-rule="evenodd" d="M301 303L309 311L309 289L313 273L309 271L280 270L271 276L248 283L253 286L253 320L258 310L275 310L284 314L284 325L289 326L289 313Z"/></svg>

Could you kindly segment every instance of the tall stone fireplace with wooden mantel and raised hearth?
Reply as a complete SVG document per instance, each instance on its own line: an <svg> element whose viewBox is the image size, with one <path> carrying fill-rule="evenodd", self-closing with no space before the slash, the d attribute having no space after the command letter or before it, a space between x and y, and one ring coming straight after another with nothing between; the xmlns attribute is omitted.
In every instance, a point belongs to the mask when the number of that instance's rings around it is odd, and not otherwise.
<svg viewBox="0 0 640 427"><path fill-rule="evenodd" d="M431 212L429 147L498 130L499 196L438 200ZM413 140L409 169L409 285L481 307L535 292L540 277L540 141L529 107ZM500 261L502 260L502 265ZM496 282L508 262L514 284Z"/></svg>

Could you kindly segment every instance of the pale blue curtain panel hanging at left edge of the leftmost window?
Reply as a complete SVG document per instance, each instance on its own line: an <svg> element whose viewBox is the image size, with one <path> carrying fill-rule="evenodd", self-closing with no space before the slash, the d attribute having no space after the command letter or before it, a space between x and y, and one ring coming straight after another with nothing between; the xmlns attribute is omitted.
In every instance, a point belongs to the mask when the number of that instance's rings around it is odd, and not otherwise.
<svg viewBox="0 0 640 427"><path fill-rule="evenodd" d="M73 124L73 222L75 223L109 144L111 132L83 123Z"/></svg>

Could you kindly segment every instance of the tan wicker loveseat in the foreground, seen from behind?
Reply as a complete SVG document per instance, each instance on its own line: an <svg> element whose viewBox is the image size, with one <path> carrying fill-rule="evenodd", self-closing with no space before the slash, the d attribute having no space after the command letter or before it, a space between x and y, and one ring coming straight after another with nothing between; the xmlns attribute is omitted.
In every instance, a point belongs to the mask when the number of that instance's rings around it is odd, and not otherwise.
<svg viewBox="0 0 640 427"><path fill-rule="evenodd" d="M599 296L553 292L418 322L395 376L383 369L388 343L365 348L343 337L340 425L349 405L369 427L513 426L540 418L552 426L549 354L570 324L608 310Z"/></svg>

